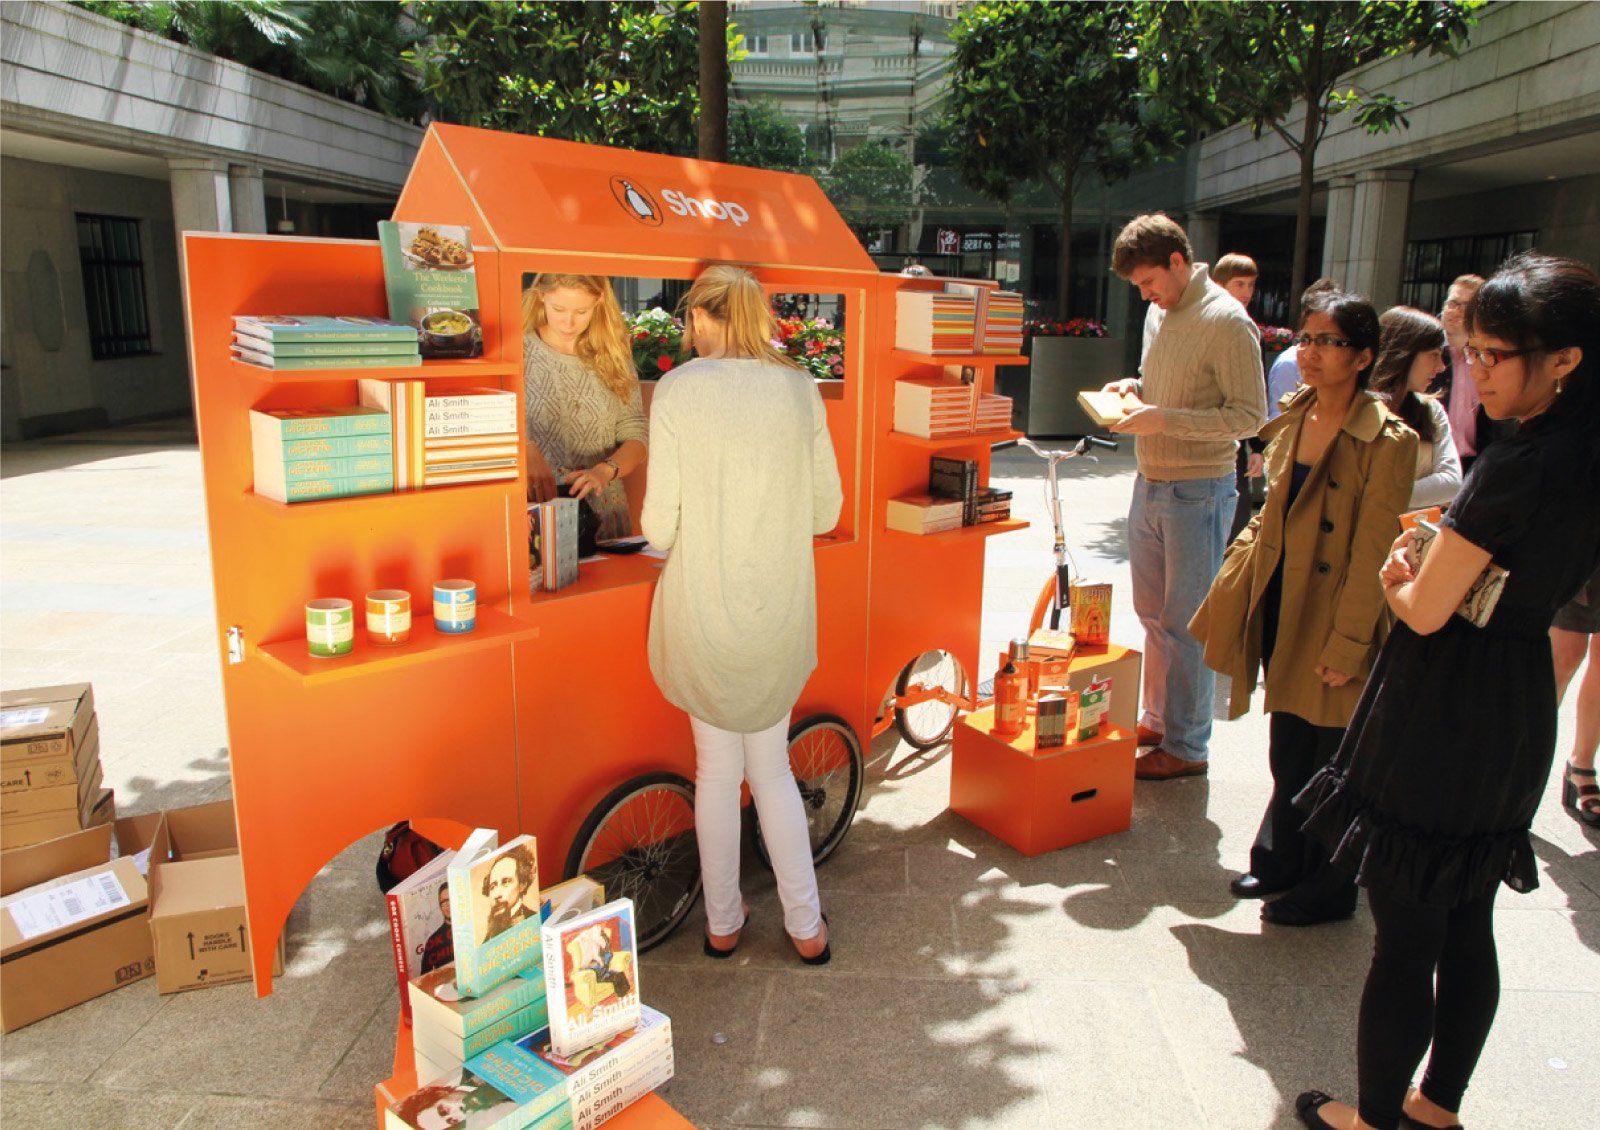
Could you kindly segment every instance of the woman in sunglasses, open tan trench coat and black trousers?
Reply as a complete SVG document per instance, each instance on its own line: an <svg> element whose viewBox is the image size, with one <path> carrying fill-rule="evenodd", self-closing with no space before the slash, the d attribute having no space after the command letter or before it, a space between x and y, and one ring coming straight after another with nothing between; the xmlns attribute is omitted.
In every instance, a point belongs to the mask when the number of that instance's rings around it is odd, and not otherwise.
<svg viewBox="0 0 1600 1130"><path fill-rule="evenodd" d="M1269 421L1267 503L1229 546L1189 629L1206 666L1230 675L1242 715L1266 667L1272 800L1232 882L1242 898L1283 895L1261 917L1315 925L1355 911L1355 884L1301 831L1291 802L1339 747L1382 642L1378 570L1411 496L1416 432L1366 392L1378 312L1323 291L1299 333L1302 387Z"/></svg>

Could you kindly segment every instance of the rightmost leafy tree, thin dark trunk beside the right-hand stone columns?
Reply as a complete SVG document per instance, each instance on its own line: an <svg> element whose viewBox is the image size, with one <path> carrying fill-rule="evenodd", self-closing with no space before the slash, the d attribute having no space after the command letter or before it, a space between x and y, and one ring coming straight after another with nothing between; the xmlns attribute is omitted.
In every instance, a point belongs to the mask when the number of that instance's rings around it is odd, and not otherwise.
<svg viewBox="0 0 1600 1130"><path fill-rule="evenodd" d="M1200 120L1250 122L1258 138L1270 130L1299 158L1290 278L1293 320L1299 319L1299 295L1306 287L1317 146L1330 118L1352 112L1357 125L1374 134L1408 125L1405 102L1344 82L1346 75L1392 54L1458 54L1480 6L1477 0L1203 0L1168 5L1166 16L1149 27L1146 48L1157 90L1210 90L1210 99L1187 104ZM1296 109L1301 120L1290 122Z"/></svg>

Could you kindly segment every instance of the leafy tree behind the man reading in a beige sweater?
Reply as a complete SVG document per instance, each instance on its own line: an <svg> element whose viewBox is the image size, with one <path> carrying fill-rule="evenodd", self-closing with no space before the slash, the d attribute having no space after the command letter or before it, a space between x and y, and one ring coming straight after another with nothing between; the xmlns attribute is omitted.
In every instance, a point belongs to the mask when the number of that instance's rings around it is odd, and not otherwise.
<svg viewBox="0 0 1600 1130"><path fill-rule="evenodd" d="M1043 181L1061 202L1058 315L1069 317L1072 200L1094 173L1118 181L1178 150L1178 118L1142 86L1139 38L1166 5L1026 3L960 10L946 122L957 173L1010 202Z"/></svg>

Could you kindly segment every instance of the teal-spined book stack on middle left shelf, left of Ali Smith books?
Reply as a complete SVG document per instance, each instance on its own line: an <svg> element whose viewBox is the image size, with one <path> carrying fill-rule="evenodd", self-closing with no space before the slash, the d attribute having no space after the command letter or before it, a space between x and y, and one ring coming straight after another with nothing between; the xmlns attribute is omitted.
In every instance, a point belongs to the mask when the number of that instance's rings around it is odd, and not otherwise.
<svg viewBox="0 0 1600 1130"><path fill-rule="evenodd" d="M390 418L379 408L254 408L254 491L277 503L394 490Z"/></svg>

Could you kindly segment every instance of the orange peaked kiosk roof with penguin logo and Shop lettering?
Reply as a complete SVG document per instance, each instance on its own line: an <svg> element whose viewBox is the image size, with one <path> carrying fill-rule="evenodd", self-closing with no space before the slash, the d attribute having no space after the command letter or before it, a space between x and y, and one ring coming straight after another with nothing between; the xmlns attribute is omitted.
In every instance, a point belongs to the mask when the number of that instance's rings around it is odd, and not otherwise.
<svg viewBox="0 0 1600 1130"><path fill-rule="evenodd" d="M502 251L877 274L808 176L459 125L429 126L395 218Z"/></svg>

